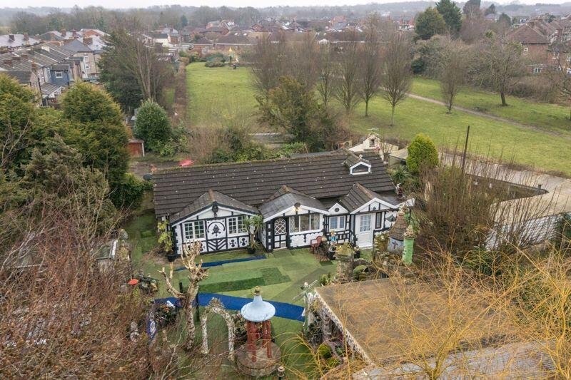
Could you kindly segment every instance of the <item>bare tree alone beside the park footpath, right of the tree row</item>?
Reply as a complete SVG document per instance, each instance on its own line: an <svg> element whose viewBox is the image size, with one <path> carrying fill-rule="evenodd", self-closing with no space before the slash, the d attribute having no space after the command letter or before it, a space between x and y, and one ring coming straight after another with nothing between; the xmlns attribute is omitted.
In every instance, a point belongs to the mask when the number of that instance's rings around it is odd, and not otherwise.
<svg viewBox="0 0 571 380"><path fill-rule="evenodd" d="M437 72L440 80L440 91L442 91L448 113L452 112L454 100L466 82L469 60L468 48L460 41L449 39L440 51Z"/></svg>

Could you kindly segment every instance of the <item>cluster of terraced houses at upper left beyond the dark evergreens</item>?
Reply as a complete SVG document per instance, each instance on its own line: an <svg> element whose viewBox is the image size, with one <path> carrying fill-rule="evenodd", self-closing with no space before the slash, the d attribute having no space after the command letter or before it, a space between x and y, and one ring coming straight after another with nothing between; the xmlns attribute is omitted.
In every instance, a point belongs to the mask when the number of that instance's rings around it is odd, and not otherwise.
<svg viewBox="0 0 571 380"><path fill-rule="evenodd" d="M26 34L0 36L0 73L16 78L41 95L41 103L55 103L65 88L79 80L98 78L103 53L102 31L49 31L33 38Z"/></svg>

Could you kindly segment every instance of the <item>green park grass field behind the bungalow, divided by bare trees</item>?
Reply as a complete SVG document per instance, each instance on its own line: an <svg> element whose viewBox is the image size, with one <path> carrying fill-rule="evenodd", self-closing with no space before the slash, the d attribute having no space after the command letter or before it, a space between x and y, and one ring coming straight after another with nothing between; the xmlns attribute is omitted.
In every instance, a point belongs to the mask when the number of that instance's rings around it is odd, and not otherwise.
<svg viewBox="0 0 571 380"><path fill-rule="evenodd" d="M191 63L187 69L191 122L208 125L216 120L217 115L236 112L236 109L246 114L255 113L256 100L249 75L247 68L206 68L203 63ZM439 99L435 82L415 78L413 91ZM475 96L474 103L462 105L467 108L487 107L492 113L495 108L486 104L493 104L497 99L493 94L477 93L480 97ZM368 118L363 116L364 105L360 104L346 119L348 125L361 133L375 128L382 135L405 140L412 139L417 133L425 133L438 145L462 144L466 126L470 125L470 150L473 153L489 153L495 157L502 155L504 158L513 155L517 163L571 175L571 130L565 132L563 120L566 109L513 97L508 98L508 103L512 106L495 111L497 115L513 118L520 123L529 118L530 128L461 111L447 114L444 106L413 98L406 99L397 107L393 127L388 126L388 103L380 97L371 101ZM550 120L551 112L553 120ZM534 115L534 118L525 115ZM559 135L543 133L540 128L554 130Z"/></svg>

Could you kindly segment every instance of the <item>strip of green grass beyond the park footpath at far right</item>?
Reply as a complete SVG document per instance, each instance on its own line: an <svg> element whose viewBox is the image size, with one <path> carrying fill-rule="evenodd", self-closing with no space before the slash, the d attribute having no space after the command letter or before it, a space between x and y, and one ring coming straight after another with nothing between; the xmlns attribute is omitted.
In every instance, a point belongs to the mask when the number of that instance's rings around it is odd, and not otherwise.
<svg viewBox="0 0 571 380"><path fill-rule="evenodd" d="M428 78L415 78L412 93L442 101L440 84ZM507 96L507 106L502 107L497 93L463 88L455 99L455 106L469 108L474 111L490 113L517 121L518 123L535 125L546 130L553 130L571 136L571 120L569 107L557 104L536 103L515 96Z"/></svg>

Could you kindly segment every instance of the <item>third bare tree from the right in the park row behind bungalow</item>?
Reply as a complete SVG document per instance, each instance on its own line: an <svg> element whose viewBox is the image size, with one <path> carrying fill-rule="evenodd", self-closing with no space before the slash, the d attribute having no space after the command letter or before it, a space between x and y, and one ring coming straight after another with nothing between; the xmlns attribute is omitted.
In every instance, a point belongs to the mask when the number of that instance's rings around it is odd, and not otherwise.
<svg viewBox="0 0 571 380"><path fill-rule="evenodd" d="M357 35L350 32L347 37L348 41L343 43L338 53L335 98L343 105L345 112L350 113L361 100L359 88L360 56Z"/></svg>

